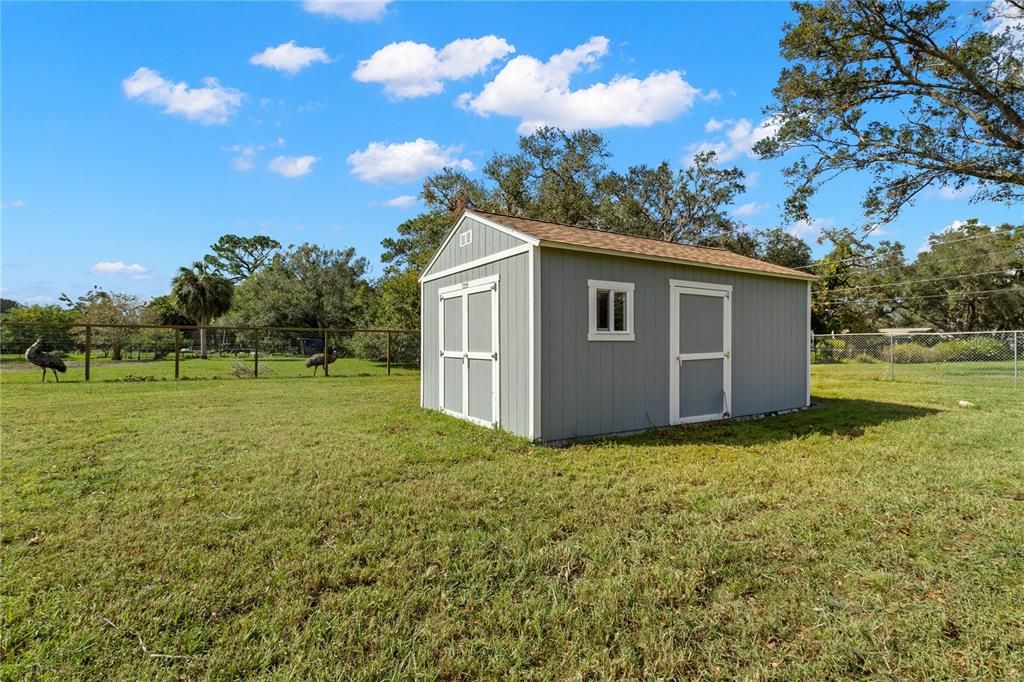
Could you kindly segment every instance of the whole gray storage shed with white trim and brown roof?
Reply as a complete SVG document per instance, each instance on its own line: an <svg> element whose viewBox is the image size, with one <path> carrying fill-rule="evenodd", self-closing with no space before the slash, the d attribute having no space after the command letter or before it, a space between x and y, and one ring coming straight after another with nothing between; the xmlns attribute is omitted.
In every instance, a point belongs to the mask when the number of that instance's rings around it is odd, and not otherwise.
<svg viewBox="0 0 1024 682"><path fill-rule="evenodd" d="M467 209L420 278L420 402L536 441L803 408L813 279Z"/></svg>

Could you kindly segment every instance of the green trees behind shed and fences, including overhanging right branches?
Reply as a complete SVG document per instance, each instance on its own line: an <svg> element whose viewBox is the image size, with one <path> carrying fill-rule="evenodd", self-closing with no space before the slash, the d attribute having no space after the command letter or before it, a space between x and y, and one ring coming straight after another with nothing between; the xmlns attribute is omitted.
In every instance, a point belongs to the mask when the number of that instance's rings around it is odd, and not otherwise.
<svg viewBox="0 0 1024 682"><path fill-rule="evenodd" d="M772 134L761 158L785 157L784 219L809 218L822 184L847 173L872 182L864 220L823 230L824 257L784 225L759 229L733 207L746 189L712 151L611 169L592 130L541 128L511 153L492 154L480 177L444 169L427 177L424 210L382 242L381 276L353 249L283 247L265 236L225 235L150 301L93 289L61 305L4 299L5 319L61 323L287 327L419 327L418 278L467 206L678 243L726 248L816 274L816 332L882 327L979 331L1024 327L1024 226L976 220L936 226L908 257L899 242L870 244L926 189L975 201L1024 202L1024 1L968 11L943 0L848 0L793 5L780 52L787 60L766 108ZM9 337L6 336L5 339ZM374 340L361 350L379 353ZM117 339L109 339L117 353ZM202 340L205 351L205 338ZM8 345L4 345L8 351ZM418 352L415 339L395 351Z"/></svg>

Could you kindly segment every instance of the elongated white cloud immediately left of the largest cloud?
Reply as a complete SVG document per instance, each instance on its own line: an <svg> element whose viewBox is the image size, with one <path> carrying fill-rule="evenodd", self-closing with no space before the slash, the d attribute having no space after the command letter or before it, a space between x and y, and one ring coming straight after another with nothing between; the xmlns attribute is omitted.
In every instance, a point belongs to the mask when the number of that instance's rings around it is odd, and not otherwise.
<svg viewBox="0 0 1024 682"><path fill-rule="evenodd" d="M394 99L438 94L444 81L481 73L495 59L515 51L504 38L461 38L440 50L407 40L391 43L362 59L352 73L361 83L381 83Z"/></svg>

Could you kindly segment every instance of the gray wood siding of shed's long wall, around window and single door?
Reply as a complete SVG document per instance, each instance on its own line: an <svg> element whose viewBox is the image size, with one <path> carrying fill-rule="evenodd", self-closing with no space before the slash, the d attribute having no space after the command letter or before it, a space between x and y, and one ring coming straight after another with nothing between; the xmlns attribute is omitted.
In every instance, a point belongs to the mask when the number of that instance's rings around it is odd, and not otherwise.
<svg viewBox="0 0 1024 682"><path fill-rule="evenodd" d="M635 341L587 340L589 279L636 285ZM669 424L669 280L733 286L733 416L804 406L806 282L542 248L544 440Z"/></svg>

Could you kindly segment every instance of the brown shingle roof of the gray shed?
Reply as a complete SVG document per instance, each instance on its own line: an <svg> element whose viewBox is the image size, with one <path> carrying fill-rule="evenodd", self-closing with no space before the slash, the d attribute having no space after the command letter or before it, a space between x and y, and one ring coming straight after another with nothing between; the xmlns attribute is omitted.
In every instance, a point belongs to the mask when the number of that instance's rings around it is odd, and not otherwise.
<svg viewBox="0 0 1024 682"><path fill-rule="evenodd" d="M814 275L774 263L767 263L757 258L740 256L725 249L698 247L689 244L677 244L646 237L617 235L615 232L594 229L592 227L577 227L557 222L517 218L501 213L490 213L479 209L466 211L490 222L522 232L550 246L577 247L583 250L612 252L654 260L678 260L695 265L710 265L727 269L742 270L757 274L772 274L775 276L814 280Z"/></svg>

